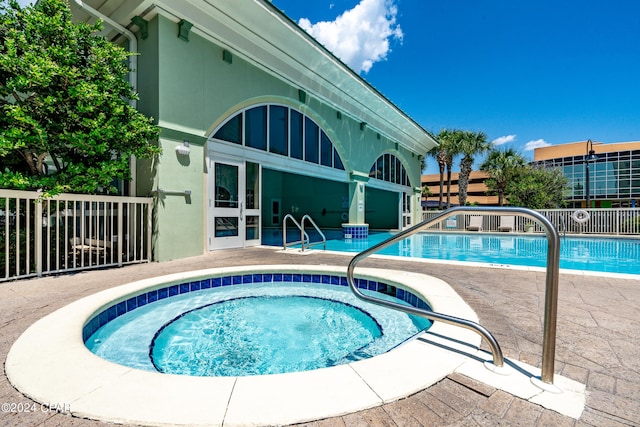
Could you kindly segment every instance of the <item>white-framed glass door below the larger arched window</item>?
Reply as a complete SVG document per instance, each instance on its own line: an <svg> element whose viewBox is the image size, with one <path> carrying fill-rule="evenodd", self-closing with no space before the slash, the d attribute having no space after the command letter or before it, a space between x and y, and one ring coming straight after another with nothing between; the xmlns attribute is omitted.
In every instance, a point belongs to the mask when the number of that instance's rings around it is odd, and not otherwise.
<svg viewBox="0 0 640 427"><path fill-rule="evenodd" d="M209 249L260 244L260 165L210 158Z"/></svg>

